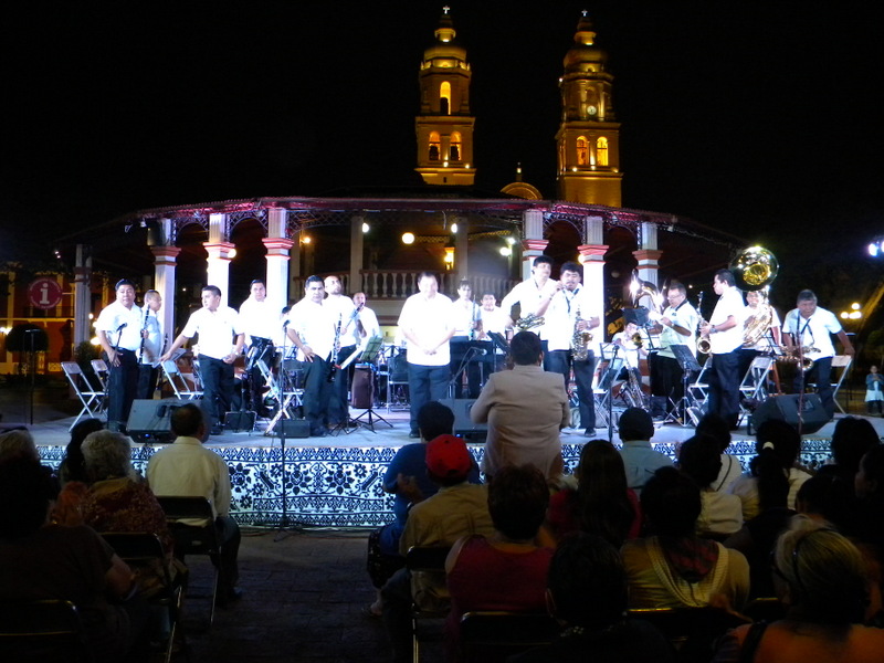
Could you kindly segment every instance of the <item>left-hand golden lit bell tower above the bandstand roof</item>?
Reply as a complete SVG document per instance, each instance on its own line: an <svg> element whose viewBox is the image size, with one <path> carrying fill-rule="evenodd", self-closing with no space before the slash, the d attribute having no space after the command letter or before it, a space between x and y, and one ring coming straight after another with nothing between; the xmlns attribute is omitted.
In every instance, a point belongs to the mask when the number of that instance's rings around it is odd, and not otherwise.
<svg viewBox="0 0 884 663"><path fill-rule="evenodd" d="M475 179L470 115L470 63L454 42L450 9L443 8L435 42L423 52L421 109L415 118L418 168L428 185L466 185Z"/></svg>

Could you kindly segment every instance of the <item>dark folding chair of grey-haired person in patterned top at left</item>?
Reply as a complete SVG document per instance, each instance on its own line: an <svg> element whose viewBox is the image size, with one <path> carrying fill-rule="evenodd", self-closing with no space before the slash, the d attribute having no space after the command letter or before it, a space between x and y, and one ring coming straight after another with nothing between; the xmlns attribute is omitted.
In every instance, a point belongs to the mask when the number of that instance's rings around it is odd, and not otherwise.
<svg viewBox="0 0 884 663"><path fill-rule="evenodd" d="M151 573L160 571L162 585L158 591L147 598L147 601L151 606L168 610L169 640L166 644L165 661L169 663L172 657L175 634L181 611L183 587L179 579L172 579L162 543L156 534L150 532L105 532L102 533L102 538L134 570L149 569Z"/></svg>

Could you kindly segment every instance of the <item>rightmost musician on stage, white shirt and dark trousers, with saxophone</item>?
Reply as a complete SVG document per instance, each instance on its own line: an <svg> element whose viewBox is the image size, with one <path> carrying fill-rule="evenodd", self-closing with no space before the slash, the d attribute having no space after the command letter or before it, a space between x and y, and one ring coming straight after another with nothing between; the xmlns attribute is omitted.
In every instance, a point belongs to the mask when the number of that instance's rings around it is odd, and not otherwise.
<svg viewBox="0 0 884 663"><path fill-rule="evenodd" d="M838 336L844 346L845 355L853 356L853 344L835 314L817 306L817 295L813 291L803 290L798 293L797 306L798 308L786 315L786 324L782 326L783 340L790 355L797 355L796 346L800 346L801 356L812 359L813 366L807 371L799 368L794 378L794 391L801 393L808 382L815 382L822 407L831 419L835 413L832 394L832 357L835 348L832 345L831 334Z"/></svg>

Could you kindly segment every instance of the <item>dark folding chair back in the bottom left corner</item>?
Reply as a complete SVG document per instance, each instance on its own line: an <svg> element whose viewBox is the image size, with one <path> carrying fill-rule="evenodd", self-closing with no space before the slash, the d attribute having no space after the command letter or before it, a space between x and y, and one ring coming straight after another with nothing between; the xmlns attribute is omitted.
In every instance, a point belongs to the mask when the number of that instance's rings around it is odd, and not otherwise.
<svg viewBox="0 0 884 663"><path fill-rule="evenodd" d="M34 663L92 663L92 652L71 601L0 603L0 657Z"/></svg>

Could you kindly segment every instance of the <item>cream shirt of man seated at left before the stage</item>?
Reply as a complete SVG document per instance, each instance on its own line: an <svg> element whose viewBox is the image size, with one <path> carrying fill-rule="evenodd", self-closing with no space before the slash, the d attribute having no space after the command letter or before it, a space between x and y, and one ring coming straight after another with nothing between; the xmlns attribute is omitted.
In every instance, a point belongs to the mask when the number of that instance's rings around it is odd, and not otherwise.
<svg viewBox="0 0 884 663"><path fill-rule="evenodd" d="M178 438L150 456L147 483L155 495L206 497L217 516L230 513L228 464L196 438Z"/></svg>

